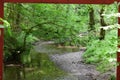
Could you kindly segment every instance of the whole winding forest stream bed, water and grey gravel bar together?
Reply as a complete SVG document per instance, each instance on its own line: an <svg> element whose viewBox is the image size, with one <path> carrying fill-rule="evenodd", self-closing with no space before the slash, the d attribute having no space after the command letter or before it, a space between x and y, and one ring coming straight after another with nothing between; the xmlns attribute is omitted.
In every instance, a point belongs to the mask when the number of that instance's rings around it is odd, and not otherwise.
<svg viewBox="0 0 120 80"><path fill-rule="evenodd" d="M56 48L52 42L37 42L29 66L4 67L4 80L111 80L114 70L100 73L84 63L84 49ZM33 56L34 54L34 56Z"/></svg>

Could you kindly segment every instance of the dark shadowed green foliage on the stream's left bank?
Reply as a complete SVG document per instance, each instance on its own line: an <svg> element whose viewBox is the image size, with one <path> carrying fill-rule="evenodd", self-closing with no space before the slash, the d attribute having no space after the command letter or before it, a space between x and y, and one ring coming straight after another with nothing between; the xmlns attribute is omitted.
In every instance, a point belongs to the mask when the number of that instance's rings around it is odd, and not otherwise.
<svg viewBox="0 0 120 80"><path fill-rule="evenodd" d="M27 56L29 56L30 49L32 47L32 43L37 40L36 37L34 37L32 34L27 34L25 31L21 31L20 33L16 33L13 30L11 30L10 24L3 20L5 23L5 45L4 45L4 60L11 61L13 59L21 62L20 58L23 55L23 53ZM17 59L18 58L18 59ZM9 62L8 61L8 62Z"/></svg>

